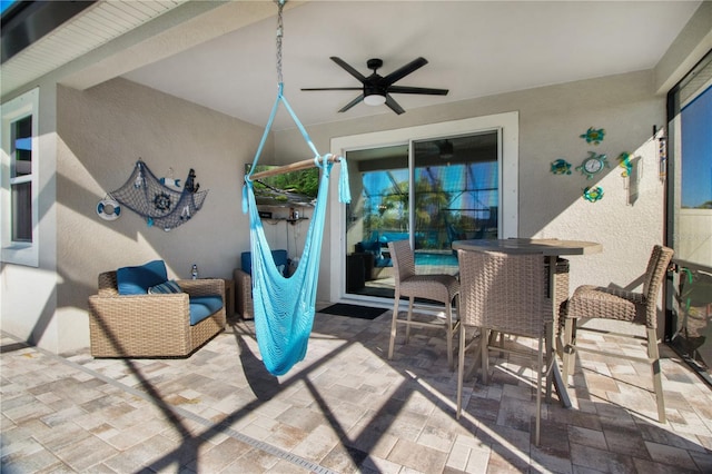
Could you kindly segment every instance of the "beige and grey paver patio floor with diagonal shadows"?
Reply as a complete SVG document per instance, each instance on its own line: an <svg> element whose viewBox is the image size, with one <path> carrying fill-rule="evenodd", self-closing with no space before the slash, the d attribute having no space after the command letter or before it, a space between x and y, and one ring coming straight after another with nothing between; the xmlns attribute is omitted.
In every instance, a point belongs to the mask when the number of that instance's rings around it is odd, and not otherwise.
<svg viewBox="0 0 712 474"><path fill-rule="evenodd" d="M399 336L388 361L389 318L317 314L305 361L280 377L239 319L187 359L60 357L2 334L0 471L712 472L712 391L664 345L668 424L647 367L591 356L573 408L543 406L537 447L526 359L467 382L458 421L442 334Z"/></svg>

